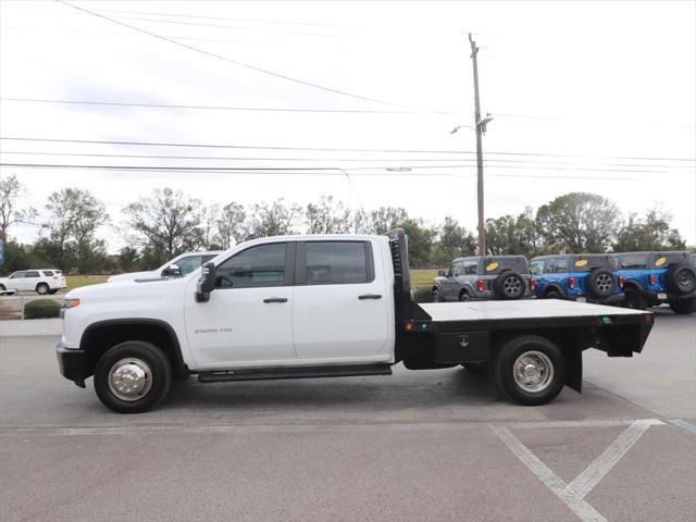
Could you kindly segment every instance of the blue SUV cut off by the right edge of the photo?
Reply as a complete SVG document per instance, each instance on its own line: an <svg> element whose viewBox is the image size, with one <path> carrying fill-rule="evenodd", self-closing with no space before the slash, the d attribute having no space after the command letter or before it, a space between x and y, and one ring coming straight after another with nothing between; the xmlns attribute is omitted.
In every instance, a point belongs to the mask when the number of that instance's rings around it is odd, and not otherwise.
<svg viewBox="0 0 696 522"><path fill-rule="evenodd" d="M668 302L675 313L696 311L695 257L689 252L616 253L625 306L644 310Z"/></svg>

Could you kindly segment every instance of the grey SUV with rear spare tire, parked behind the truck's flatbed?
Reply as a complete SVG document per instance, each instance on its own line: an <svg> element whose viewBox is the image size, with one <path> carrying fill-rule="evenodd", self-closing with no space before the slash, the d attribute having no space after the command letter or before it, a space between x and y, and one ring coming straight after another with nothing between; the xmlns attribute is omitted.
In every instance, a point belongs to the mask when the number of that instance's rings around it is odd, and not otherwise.
<svg viewBox="0 0 696 522"><path fill-rule="evenodd" d="M457 258L449 272L433 281L433 301L514 300L530 297L530 270L524 256Z"/></svg>

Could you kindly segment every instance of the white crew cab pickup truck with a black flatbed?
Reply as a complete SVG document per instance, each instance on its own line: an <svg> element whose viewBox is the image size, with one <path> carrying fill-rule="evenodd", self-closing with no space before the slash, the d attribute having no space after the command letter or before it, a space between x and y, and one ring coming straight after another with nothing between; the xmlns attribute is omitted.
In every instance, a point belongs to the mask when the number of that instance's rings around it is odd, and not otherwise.
<svg viewBox="0 0 696 522"><path fill-rule="evenodd" d="M61 373L94 375L117 412L157 406L173 380L202 383L489 369L523 405L581 390L582 351L643 349L649 312L566 301L419 304L407 241L387 236L269 237L187 276L110 283L65 296Z"/></svg>

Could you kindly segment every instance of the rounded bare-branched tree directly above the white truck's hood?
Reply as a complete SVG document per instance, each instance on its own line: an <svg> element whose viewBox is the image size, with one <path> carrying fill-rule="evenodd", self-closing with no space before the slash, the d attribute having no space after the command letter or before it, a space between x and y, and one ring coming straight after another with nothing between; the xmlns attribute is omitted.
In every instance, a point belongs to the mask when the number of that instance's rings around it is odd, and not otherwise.
<svg viewBox="0 0 696 522"><path fill-rule="evenodd" d="M161 263L200 245L201 202L181 190L156 189L124 209L133 241Z"/></svg>

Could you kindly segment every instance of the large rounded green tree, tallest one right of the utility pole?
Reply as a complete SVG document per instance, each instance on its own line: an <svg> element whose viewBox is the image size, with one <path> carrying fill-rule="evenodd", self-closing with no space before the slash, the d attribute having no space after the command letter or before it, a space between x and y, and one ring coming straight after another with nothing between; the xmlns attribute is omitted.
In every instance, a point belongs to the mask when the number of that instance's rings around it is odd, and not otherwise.
<svg viewBox="0 0 696 522"><path fill-rule="evenodd" d="M549 247L606 252L620 226L617 206L596 194L570 192L539 207L536 221Z"/></svg>

